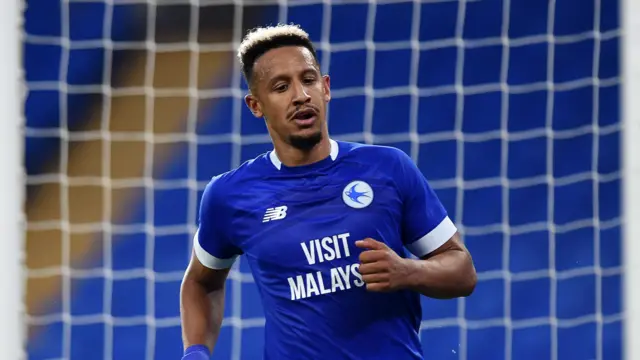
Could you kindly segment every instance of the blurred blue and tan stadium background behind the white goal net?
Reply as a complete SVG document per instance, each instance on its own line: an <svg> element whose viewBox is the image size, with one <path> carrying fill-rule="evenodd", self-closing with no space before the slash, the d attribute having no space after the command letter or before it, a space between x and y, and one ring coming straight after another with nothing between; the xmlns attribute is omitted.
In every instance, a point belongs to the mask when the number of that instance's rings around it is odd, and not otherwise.
<svg viewBox="0 0 640 360"><path fill-rule="evenodd" d="M179 359L201 190L270 149L234 58L301 24L336 139L410 154L480 282L424 299L428 359L622 359L619 2L31 0L29 359ZM215 359L259 359L240 261Z"/></svg>

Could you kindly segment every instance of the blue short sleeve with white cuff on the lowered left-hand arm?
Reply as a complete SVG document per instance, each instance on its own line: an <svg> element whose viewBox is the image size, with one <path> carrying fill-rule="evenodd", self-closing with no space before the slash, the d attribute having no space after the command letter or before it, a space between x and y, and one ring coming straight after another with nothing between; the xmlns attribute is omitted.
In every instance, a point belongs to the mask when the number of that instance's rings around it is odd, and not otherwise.
<svg viewBox="0 0 640 360"><path fill-rule="evenodd" d="M229 211L222 192L212 180L202 194L200 222L193 239L196 257L210 269L230 268L242 252L229 236Z"/></svg>

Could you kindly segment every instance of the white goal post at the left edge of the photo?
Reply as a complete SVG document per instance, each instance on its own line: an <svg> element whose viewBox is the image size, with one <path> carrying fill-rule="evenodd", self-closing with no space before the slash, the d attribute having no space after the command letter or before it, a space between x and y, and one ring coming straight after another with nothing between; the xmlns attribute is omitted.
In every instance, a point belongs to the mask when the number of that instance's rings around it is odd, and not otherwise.
<svg viewBox="0 0 640 360"><path fill-rule="evenodd" d="M22 1L0 14L0 348L5 359L24 358Z"/></svg>

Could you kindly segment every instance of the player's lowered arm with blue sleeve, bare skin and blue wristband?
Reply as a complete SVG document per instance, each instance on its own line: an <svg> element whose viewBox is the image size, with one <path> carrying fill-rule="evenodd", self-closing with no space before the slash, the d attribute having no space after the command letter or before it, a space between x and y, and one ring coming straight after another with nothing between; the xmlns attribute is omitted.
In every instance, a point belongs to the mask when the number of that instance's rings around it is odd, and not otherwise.
<svg viewBox="0 0 640 360"><path fill-rule="evenodd" d="M184 360L209 359L222 326L227 275L241 253L230 240L229 211L223 193L214 180L202 195L193 254L182 280Z"/></svg>

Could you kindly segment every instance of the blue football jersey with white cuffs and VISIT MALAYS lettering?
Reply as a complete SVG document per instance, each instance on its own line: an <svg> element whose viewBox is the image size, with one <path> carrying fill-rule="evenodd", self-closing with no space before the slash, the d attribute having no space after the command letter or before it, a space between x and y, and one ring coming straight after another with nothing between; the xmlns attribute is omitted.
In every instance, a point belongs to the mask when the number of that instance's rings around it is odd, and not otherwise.
<svg viewBox="0 0 640 360"><path fill-rule="evenodd" d="M244 254L265 312L265 359L422 359L420 295L374 293L356 240L422 257L456 227L401 150L331 140L326 159L287 167L275 151L206 187L195 253L228 268Z"/></svg>

